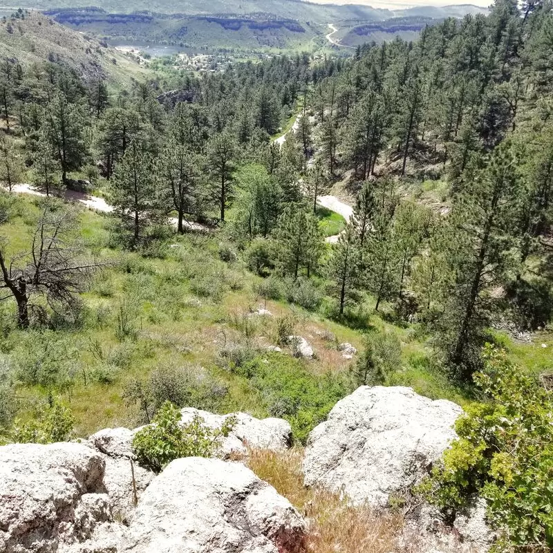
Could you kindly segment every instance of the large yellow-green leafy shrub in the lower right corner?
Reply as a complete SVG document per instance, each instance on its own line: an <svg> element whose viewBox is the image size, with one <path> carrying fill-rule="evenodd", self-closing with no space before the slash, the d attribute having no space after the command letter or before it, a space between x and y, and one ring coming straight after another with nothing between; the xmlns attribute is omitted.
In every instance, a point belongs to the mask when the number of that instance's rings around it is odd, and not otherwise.
<svg viewBox="0 0 553 553"><path fill-rule="evenodd" d="M500 532L497 551L553 547L553 402L534 375L487 344L475 381L486 402L471 404L458 440L420 486L431 503L454 514L474 494Z"/></svg>

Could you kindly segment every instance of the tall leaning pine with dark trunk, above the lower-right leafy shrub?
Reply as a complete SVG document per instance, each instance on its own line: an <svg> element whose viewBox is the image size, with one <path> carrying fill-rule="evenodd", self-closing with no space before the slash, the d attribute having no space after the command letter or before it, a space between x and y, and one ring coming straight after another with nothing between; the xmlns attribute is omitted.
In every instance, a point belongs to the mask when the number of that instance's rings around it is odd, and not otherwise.
<svg viewBox="0 0 553 553"><path fill-rule="evenodd" d="M444 293L439 343L456 375L468 379L480 359L489 317L485 291L501 283L519 246L521 182L510 144L501 144L482 169L471 170L449 218L447 259L455 275Z"/></svg>

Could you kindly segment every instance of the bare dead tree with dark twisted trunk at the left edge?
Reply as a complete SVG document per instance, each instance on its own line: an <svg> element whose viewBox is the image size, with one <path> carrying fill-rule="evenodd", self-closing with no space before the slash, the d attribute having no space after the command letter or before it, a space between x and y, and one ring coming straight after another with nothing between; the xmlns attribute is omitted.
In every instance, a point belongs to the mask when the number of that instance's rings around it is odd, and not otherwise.
<svg viewBox="0 0 553 553"><path fill-rule="evenodd" d="M17 303L17 326L28 328L32 299L43 297L56 310L71 310L78 303L78 293L84 291L89 277L102 263L84 260L82 245L69 239L75 229L75 217L69 212L50 212L39 219L32 234L30 250L8 260L0 244L0 288Z"/></svg>

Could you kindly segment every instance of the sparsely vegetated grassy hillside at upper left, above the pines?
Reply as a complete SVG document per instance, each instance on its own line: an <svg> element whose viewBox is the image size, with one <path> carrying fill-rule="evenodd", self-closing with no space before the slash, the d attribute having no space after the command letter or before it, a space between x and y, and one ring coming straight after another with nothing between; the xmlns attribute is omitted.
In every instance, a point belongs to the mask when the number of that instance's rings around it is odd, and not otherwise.
<svg viewBox="0 0 553 553"><path fill-rule="evenodd" d="M102 78L112 86L127 86L148 74L129 57L102 46L39 12L24 12L0 22L0 57L24 66L52 61L72 68L86 78Z"/></svg>

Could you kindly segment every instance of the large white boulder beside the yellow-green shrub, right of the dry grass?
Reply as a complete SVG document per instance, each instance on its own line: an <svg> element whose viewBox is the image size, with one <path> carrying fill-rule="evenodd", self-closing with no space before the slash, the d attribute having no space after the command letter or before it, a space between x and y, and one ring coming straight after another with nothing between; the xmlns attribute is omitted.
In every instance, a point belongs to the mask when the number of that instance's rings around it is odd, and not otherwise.
<svg viewBox="0 0 553 553"><path fill-rule="evenodd" d="M354 503L383 507L428 474L456 438L460 406L411 388L361 386L309 435L306 485L324 485Z"/></svg>

